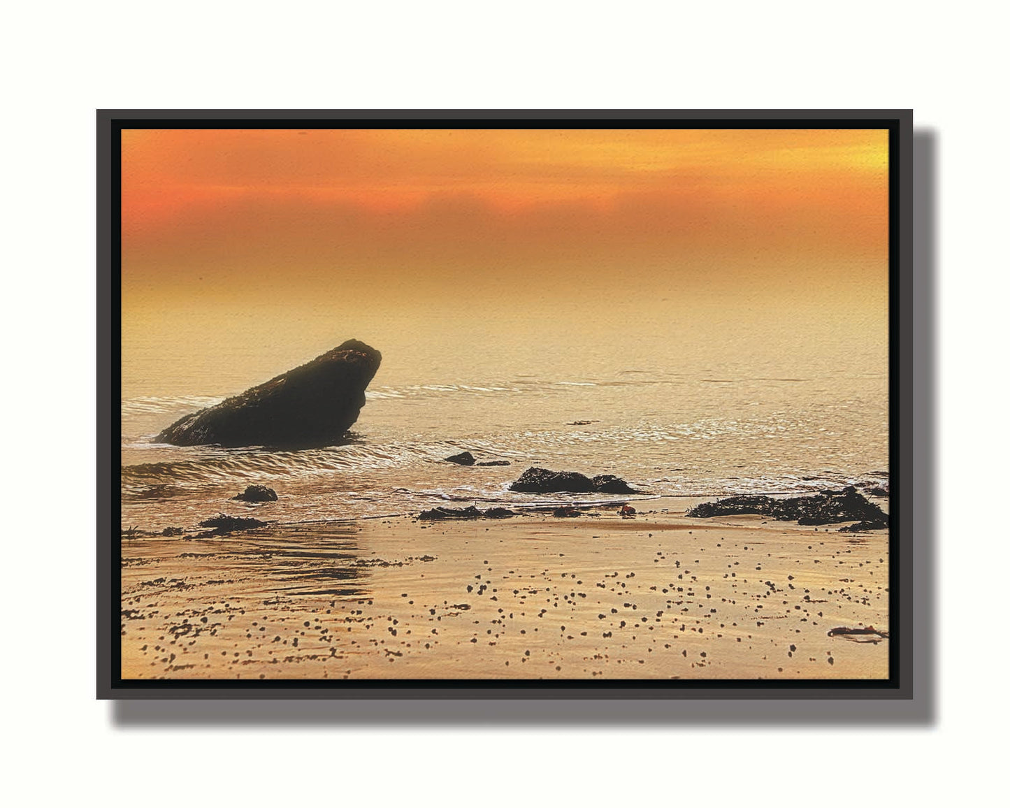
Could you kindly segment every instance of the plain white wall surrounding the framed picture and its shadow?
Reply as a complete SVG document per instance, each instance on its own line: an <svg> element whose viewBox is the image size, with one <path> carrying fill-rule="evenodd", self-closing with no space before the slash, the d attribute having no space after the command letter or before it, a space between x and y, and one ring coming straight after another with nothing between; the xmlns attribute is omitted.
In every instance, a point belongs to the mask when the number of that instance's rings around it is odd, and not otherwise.
<svg viewBox="0 0 1010 808"><path fill-rule="evenodd" d="M21 792L17 804L101 792L141 805L617 804L641 790L670 804L981 802L1006 715L997 598L1007 531L994 509L961 503L1001 503L1006 465L997 8L204 0L8 9L0 205L13 516L3 531L2 676L5 782ZM307 725L207 727L136 725L94 700L94 110L339 107L915 109L938 149L931 722L711 726L695 720L704 709L673 703L605 708L636 726L439 727L390 723L396 708L376 705L313 722L319 708L302 705L289 709ZM39 366L59 368L41 390L23 376ZM80 467L52 468L68 442ZM386 723L364 723L373 712ZM420 714L430 720L430 705ZM648 720L656 715L665 722Z"/></svg>

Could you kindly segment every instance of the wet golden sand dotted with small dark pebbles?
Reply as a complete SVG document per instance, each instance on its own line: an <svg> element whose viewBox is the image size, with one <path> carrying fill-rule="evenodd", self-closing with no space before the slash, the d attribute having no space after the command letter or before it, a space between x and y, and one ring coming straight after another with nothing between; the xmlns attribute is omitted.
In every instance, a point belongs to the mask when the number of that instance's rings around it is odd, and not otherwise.
<svg viewBox="0 0 1010 808"><path fill-rule="evenodd" d="M122 676L887 678L887 531L699 501L124 539Z"/></svg>

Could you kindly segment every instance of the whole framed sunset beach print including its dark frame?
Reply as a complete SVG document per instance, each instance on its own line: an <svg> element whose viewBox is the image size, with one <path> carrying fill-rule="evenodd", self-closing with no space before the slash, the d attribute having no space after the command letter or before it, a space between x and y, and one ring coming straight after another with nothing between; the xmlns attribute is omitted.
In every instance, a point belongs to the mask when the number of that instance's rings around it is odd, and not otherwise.
<svg viewBox="0 0 1010 808"><path fill-rule="evenodd" d="M100 111L99 696L909 698L910 144Z"/></svg>

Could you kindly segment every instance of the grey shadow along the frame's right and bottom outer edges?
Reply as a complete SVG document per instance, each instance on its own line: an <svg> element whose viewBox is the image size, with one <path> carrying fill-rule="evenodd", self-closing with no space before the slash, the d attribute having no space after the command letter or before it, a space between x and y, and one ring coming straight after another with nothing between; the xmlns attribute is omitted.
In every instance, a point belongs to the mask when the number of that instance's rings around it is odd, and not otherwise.
<svg viewBox="0 0 1010 808"><path fill-rule="evenodd" d="M559 692L553 699L527 699L521 692L488 699L480 691L449 699L414 699L361 692L338 700L297 696L244 699L222 693L219 700L119 699L110 702L109 722L117 729L155 727L452 727L452 726L922 726L936 721L936 178L937 134L912 132L911 277L902 319L911 319L911 343L903 347L902 390L911 398L912 423L899 425L908 461L910 501L906 518L914 540L910 660L913 697L907 700L831 698L781 699L774 691L745 699L670 698L623 693L620 699L582 698ZM102 298L99 297L99 300ZM910 310L908 308L910 307ZM910 376L910 378L909 378ZM907 524L907 522L906 522Z"/></svg>

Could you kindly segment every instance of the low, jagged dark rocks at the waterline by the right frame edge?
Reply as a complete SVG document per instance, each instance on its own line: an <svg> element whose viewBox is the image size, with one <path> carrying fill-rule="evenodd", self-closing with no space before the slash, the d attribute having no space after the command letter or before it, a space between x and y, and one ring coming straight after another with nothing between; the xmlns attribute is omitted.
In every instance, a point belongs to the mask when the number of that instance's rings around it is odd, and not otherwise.
<svg viewBox="0 0 1010 808"><path fill-rule="evenodd" d="M790 499L765 496L728 497L715 502L703 502L685 516L739 516L759 514L773 519L800 524L835 524L863 522L862 529L878 530L888 526L888 516L879 505L868 500L853 487L842 491L822 491L820 494Z"/></svg>

